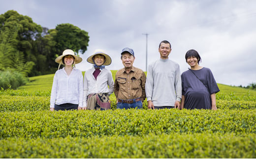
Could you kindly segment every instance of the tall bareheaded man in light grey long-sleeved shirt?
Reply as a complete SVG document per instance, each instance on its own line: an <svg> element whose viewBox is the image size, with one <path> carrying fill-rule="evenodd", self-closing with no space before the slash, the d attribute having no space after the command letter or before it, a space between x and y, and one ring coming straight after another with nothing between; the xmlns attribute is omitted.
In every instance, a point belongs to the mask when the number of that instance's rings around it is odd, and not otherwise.
<svg viewBox="0 0 256 159"><path fill-rule="evenodd" d="M180 66L168 59L170 42L160 42L160 59L147 70L146 96L149 109L179 108L182 94Z"/></svg>

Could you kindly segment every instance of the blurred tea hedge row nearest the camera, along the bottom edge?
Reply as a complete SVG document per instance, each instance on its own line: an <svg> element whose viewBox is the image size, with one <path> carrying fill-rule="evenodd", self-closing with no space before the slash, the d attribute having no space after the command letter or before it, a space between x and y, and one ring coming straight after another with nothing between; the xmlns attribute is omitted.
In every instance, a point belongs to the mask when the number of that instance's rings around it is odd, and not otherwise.
<svg viewBox="0 0 256 159"><path fill-rule="evenodd" d="M67 136L0 142L0 158L256 158L255 134Z"/></svg>

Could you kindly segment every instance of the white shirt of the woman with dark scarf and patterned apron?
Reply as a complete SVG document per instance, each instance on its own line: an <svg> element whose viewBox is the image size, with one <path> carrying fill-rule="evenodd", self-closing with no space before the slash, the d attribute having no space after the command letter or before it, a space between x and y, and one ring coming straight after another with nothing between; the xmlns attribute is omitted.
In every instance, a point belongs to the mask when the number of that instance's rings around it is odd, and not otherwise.
<svg viewBox="0 0 256 159"><path fill-rule="evenodd" d="M90 94L107 93L111 95L114 92L114 80L110 70L103 68L95 79L93 73L95 68L88 69L85 72L84 77L84 103L83 106L87 105L87 96ZM109 88L108 88L109 86Z"/></svg>

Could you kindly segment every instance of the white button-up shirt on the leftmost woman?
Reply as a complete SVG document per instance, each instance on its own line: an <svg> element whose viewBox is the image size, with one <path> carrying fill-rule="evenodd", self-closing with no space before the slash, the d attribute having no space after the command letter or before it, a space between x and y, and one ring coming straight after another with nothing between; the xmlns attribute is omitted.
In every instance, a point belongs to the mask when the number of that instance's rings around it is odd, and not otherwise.
<svg viewBox="0 0 256 159"><path fill-rule="evenodd" d="M73 67L69 75L64 68L56 71L53 78L50 108L54 105L71 103L83 107L83 74Z"/></svg>

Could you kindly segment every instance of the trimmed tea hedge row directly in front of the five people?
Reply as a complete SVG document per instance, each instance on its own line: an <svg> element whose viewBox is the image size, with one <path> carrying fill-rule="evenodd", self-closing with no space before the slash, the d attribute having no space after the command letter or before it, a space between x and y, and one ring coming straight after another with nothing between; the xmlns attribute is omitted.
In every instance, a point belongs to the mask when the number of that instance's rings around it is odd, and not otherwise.
<svg viewBox="0 0 256 159"><path fill-rule="evenodd" d="M255 110L108 110L0 113L0 139L178 133L256 133Z"/></svg>

